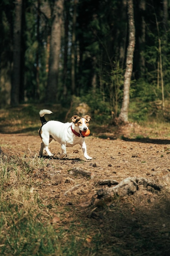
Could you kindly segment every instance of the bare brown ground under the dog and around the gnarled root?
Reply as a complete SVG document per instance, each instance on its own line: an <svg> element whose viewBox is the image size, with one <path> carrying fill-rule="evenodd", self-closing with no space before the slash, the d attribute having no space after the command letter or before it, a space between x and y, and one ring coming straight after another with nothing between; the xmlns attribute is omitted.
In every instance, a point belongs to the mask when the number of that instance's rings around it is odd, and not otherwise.
<svg viewBox="0 0 170 256"><path fill-rule="evenodd" d="M137 139L135 134L143 137ZM89 255L170 255L170 184L162 191L141 186L134 194L122 197L97 199L96 195L99 189L108 187L99 185L99 180L120 182L134 176L159 180L169 174L170 140L163 132L156 139L145 135L147 130L133 125L114 134L86 137L91 161L84 158L78 145L67 148L66 159L60 160L60 145L52 142L50 149L55 157L44 157L43 167L31 174L42 202L51 205L49 215L56 231L65 227L69 233L74 223L73 235L77 237L81 232L85 236L82 228L87 229L84 246L94 251ZM38 155L40 142L38 135L0 136L2 150L21 158ZM75 167L93 175L89 178L69 173ZM93 250L94 246L97 248Z"/></svg>

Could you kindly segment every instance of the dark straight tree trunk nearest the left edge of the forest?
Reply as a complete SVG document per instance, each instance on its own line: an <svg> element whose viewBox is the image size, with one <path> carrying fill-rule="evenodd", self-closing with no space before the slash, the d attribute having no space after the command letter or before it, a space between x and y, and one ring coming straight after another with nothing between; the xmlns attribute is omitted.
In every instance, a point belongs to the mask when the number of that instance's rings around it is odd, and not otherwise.
<svg viewBox="0 0 170 256"><path fill-rule="evenodd" d="M21 61L21 22L22 0L15 1L15 18L13 25L13 75L11 83L11 106L19 104L20 61Z"/></svg>

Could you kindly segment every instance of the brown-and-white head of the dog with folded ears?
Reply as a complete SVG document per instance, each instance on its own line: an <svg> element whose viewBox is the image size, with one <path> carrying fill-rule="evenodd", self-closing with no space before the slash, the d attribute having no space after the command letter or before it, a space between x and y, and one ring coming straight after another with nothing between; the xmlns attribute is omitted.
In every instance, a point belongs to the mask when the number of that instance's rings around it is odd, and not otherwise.
<svg viewBox="0 0 170 256"><path fill-rule="evenodd" d="M80 131L84 132L88 129L88 122L91 120L91 117L85 115L84 117L73 116L71 117L75 127L77 127Z"/></svg>

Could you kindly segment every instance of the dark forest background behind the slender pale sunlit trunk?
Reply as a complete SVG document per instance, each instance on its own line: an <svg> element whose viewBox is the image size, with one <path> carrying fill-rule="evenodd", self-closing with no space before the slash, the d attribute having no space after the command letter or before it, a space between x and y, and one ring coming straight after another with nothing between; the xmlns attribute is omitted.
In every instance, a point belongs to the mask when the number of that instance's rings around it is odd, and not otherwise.
<svg viewBox="0 0 170 256"><path fill-rule="evenodd" d="M124 103L133 10L128 97L132 121L169 121L169 0L2 0L0 108L85 103L113 123Z"/></svg>

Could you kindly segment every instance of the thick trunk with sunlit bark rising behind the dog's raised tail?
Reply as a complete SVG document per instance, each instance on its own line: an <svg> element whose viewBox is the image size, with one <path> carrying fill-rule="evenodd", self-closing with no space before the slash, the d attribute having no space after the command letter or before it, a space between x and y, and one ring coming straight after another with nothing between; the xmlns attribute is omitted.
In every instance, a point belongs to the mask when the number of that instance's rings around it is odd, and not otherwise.
<svg viewBox="0 0 170 256"><path fill-rule="evenodd" d="M50 56L49 56L49 76L46 92L46 101L56 103L57 101L57 84L59 72L59 59L61 48L61 30L62 30L62 14L64 8L64 0L55 0L53 7L53 15L51 17L51 40L50 40Z"/></svg>

